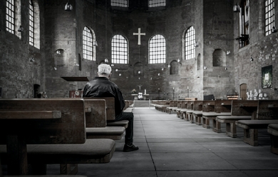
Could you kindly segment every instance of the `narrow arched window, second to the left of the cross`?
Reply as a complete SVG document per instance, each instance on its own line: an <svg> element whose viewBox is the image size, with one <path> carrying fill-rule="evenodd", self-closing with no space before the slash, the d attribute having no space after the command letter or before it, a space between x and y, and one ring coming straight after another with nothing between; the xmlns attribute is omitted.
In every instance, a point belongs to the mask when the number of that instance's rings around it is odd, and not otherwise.
<svg viewBox="0 0 278 177"><path fill-rule="evenodd" d="M83 30L83 58L93 60L93 36L86 26Z"/></svg>

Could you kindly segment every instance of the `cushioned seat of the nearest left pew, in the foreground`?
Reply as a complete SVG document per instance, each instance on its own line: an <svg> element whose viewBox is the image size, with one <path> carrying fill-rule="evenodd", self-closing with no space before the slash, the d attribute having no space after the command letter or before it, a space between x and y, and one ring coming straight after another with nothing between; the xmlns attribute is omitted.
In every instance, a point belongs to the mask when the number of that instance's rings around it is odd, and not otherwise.
<svg viewBox="0 0 278 177"><path fill-rule="evenodd" d="M84 144L28 144L28 163L41 166L46 174L46 164L108 163L115 151L112 139L87 139ZM6 164L6 145L0 145L1 163ZM43 167L44 166L44 167Z"/></svg>

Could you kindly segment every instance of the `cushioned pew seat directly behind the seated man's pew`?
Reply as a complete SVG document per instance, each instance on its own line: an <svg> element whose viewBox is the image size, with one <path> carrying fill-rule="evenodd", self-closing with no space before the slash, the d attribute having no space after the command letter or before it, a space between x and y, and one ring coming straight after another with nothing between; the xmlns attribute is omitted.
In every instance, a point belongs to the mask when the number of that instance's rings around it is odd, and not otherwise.
<svg viewBox="0 0 278 177"><path fill-rule="evenodd" d="M120 140L124 132L125 127L86 127L86 138Z"/></svg>

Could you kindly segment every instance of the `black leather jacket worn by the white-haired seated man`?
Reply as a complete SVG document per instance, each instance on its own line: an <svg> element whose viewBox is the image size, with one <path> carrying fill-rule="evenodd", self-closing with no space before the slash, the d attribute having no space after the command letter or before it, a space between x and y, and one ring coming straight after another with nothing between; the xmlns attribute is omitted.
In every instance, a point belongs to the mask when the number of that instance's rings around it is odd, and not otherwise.
<svg viewBox="0 0 278 177"><path fill-rule="evenodd" d="M107 77L95 77L84 87L83 97L114 97L115 98L115 116L123 112L125 100L122 92L114 82Z"/></svg>

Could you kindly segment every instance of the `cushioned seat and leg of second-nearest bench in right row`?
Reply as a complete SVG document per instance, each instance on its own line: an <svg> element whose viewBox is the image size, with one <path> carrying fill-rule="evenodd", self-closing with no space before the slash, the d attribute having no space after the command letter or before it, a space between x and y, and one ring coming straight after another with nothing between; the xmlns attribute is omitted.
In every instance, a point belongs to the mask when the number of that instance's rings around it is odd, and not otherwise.
<svg viewBox="0 0 278 177"><path fill-rule="evenodd" d="M251 146L258 146L257 129L267 129L269 124L278 124L278 119L252 119L252 120L239 120L235 122L238 127L244 129L243 141Z"/></svg>

